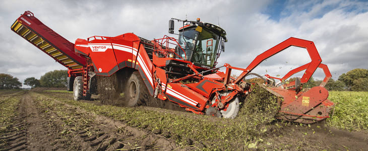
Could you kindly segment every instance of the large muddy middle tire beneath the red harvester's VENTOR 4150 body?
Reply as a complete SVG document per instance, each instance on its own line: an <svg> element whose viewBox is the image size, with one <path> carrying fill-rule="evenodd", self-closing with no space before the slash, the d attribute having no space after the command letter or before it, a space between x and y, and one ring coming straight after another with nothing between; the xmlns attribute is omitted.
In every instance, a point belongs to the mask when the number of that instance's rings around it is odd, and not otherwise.
<svg viewBox="0 0 368 151"><path fill-rule="evenodd" d="M126 106L140 106L146 104L148 99L148 90L138 71L132 73L126 83L125 89Z"/></svg>

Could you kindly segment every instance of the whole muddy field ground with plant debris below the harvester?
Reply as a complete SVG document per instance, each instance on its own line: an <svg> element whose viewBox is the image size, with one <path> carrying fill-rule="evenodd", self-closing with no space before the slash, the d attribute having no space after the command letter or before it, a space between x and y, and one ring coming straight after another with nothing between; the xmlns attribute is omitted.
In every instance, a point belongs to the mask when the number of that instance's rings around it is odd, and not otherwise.
<svg viewBox="0 0 368 151"><path fill-rule="evenodd" d="M57 90L0 91L0 150L368 148L367 130L338 129L326 121L295 124L245 110L233 120L220 119L152 107L102 105L98 96L74 101L72 95Z"/></svg>

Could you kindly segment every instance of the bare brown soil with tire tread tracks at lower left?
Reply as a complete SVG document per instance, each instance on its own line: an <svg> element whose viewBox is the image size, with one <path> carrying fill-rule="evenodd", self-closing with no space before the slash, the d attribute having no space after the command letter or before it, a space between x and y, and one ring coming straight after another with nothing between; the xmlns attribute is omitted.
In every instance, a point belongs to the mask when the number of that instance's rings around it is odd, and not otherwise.
<svg viewBox="0 0 368 151"><path fill-rule="evenodd" d="M79 107L37 93L21 95L10 128L0 133L0 150L182 149L163 136Z"/></svg>

